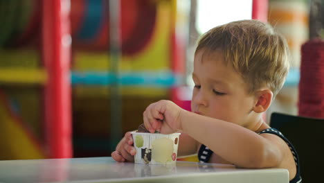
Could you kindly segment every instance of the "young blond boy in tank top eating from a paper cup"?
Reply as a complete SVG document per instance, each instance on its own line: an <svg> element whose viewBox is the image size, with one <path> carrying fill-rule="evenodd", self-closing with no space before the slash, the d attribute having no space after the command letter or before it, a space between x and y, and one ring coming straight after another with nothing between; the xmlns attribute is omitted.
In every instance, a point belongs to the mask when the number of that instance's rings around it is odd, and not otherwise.
<svg viewBox="0 0 324 183"><path fill-rule="evenodd" d="M143 113L145 127L181 131L178 155L198 153L201 162L243 168L287 168L290 182L300 182L294 147L262 119L288 70L287 42L268 24L217 26L201 37L195 52L192 112L171 101L152 103ZM134 161L132 144L127 132L111 156Z"/></svg>

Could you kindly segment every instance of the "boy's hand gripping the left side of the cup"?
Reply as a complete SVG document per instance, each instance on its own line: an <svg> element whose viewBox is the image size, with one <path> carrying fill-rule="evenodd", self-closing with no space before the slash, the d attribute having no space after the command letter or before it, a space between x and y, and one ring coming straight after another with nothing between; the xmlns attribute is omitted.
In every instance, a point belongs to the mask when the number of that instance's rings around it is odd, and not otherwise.
<svg viewBox="0 0 324 183"><path fill-rule="evenodd" d="M116 162L134 162L136 149L133 143L131 132L126 132L125 137L118 143L116 150L111 153L111 157L114 158Z"/></svg>

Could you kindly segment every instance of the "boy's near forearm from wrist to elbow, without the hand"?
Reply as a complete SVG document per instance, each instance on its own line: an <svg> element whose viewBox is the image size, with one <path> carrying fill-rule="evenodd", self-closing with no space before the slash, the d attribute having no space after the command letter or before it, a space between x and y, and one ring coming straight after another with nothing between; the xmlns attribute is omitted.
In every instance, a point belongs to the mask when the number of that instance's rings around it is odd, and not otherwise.
<svg viewBox="0 0 324 183"><path fill-rule="evenodd" d="M251 130L192 112L183 112L180 121L183 132L228 162L253 167L264 160L267 141Z"/></svg>

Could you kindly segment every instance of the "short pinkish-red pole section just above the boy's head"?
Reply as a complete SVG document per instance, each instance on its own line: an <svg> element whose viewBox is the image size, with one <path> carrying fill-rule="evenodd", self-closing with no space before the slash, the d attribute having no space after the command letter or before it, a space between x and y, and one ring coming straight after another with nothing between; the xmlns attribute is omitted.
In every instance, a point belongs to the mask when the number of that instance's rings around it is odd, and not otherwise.
<svg viewBox="0 0 324 183"><path fill-rule="evenodd" d="M268 0L253 0L252 19L258 19L263 22L268 21Z"/></svg>

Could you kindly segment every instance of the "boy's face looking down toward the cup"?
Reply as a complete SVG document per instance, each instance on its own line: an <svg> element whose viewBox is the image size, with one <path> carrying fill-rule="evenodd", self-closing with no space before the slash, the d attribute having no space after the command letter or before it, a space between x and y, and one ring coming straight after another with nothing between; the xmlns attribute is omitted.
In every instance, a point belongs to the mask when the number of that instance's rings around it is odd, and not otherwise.
<svg viewBox="0 0 324 183"><path fill-rule="evenodd" d="M253 119L255 97L231 64L224 64L222 53L198 51L194 60L191 110L197 114L247 127Z"/></svg>

